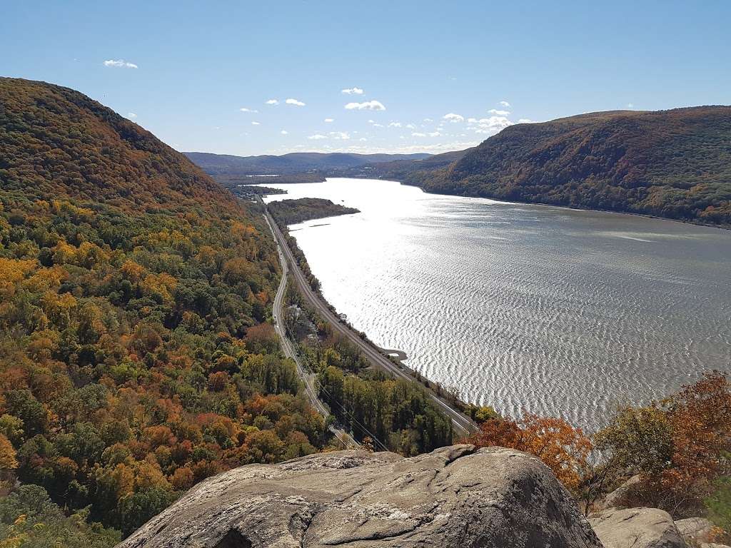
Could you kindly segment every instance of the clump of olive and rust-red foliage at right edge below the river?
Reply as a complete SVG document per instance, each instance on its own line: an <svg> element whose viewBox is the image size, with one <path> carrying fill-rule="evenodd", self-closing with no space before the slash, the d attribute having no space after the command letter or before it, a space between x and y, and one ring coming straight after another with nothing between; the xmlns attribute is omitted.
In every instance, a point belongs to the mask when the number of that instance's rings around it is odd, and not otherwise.
<svg viewBox="0 0 731 548"><path fill-rule="evenodd" d="M731 468L731 384L711 371L651 406L620 408L596 443L620 473L640 474L628 502L697 515Z"/></svg>

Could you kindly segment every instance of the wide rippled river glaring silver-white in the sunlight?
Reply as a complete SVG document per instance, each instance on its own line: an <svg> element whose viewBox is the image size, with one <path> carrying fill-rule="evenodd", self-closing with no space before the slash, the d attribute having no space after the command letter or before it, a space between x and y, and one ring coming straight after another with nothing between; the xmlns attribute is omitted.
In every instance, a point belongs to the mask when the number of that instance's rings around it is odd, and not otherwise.
<svg viewBox="0 0 731 548"><path fill-rule="evenodd" d="M361 210L291 227L322 293L465 400L591 429L731 370L731 231L382 180L268 186Z"/></svg>

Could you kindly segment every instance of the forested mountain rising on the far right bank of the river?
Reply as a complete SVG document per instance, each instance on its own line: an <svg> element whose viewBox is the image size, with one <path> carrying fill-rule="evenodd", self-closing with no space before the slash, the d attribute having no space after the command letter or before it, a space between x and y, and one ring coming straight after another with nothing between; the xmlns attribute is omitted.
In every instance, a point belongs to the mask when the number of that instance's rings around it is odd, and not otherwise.
<svg viewBox="0 0 731 548"><path fill-rule="evenodd" d="M373 167L430 192L731 227L731 107L522 123L436 169L420 162Z"/></svg>

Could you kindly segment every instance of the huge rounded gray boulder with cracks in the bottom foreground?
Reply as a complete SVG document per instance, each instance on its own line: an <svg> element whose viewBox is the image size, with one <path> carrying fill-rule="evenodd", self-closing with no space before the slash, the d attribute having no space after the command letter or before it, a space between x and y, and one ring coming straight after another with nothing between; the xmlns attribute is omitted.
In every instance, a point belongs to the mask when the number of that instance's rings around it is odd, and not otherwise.
<svg viewBox="0 0 731 548"><path fill-rule="evenodd" d="M602 547L537 458L470 445L242 466L193 487L119 546Z"/></svg>

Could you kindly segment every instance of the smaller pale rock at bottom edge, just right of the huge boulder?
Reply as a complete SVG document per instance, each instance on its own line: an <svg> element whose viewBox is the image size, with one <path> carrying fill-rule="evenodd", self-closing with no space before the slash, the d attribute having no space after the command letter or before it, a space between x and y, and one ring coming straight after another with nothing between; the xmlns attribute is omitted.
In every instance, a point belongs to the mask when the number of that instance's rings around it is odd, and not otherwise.
<svg viewBox="0 0 731 548"><path fill-rule="evenodd" d="M656 508L610 509L589 523L605 548L686 548L673 518Z"/></svg>

